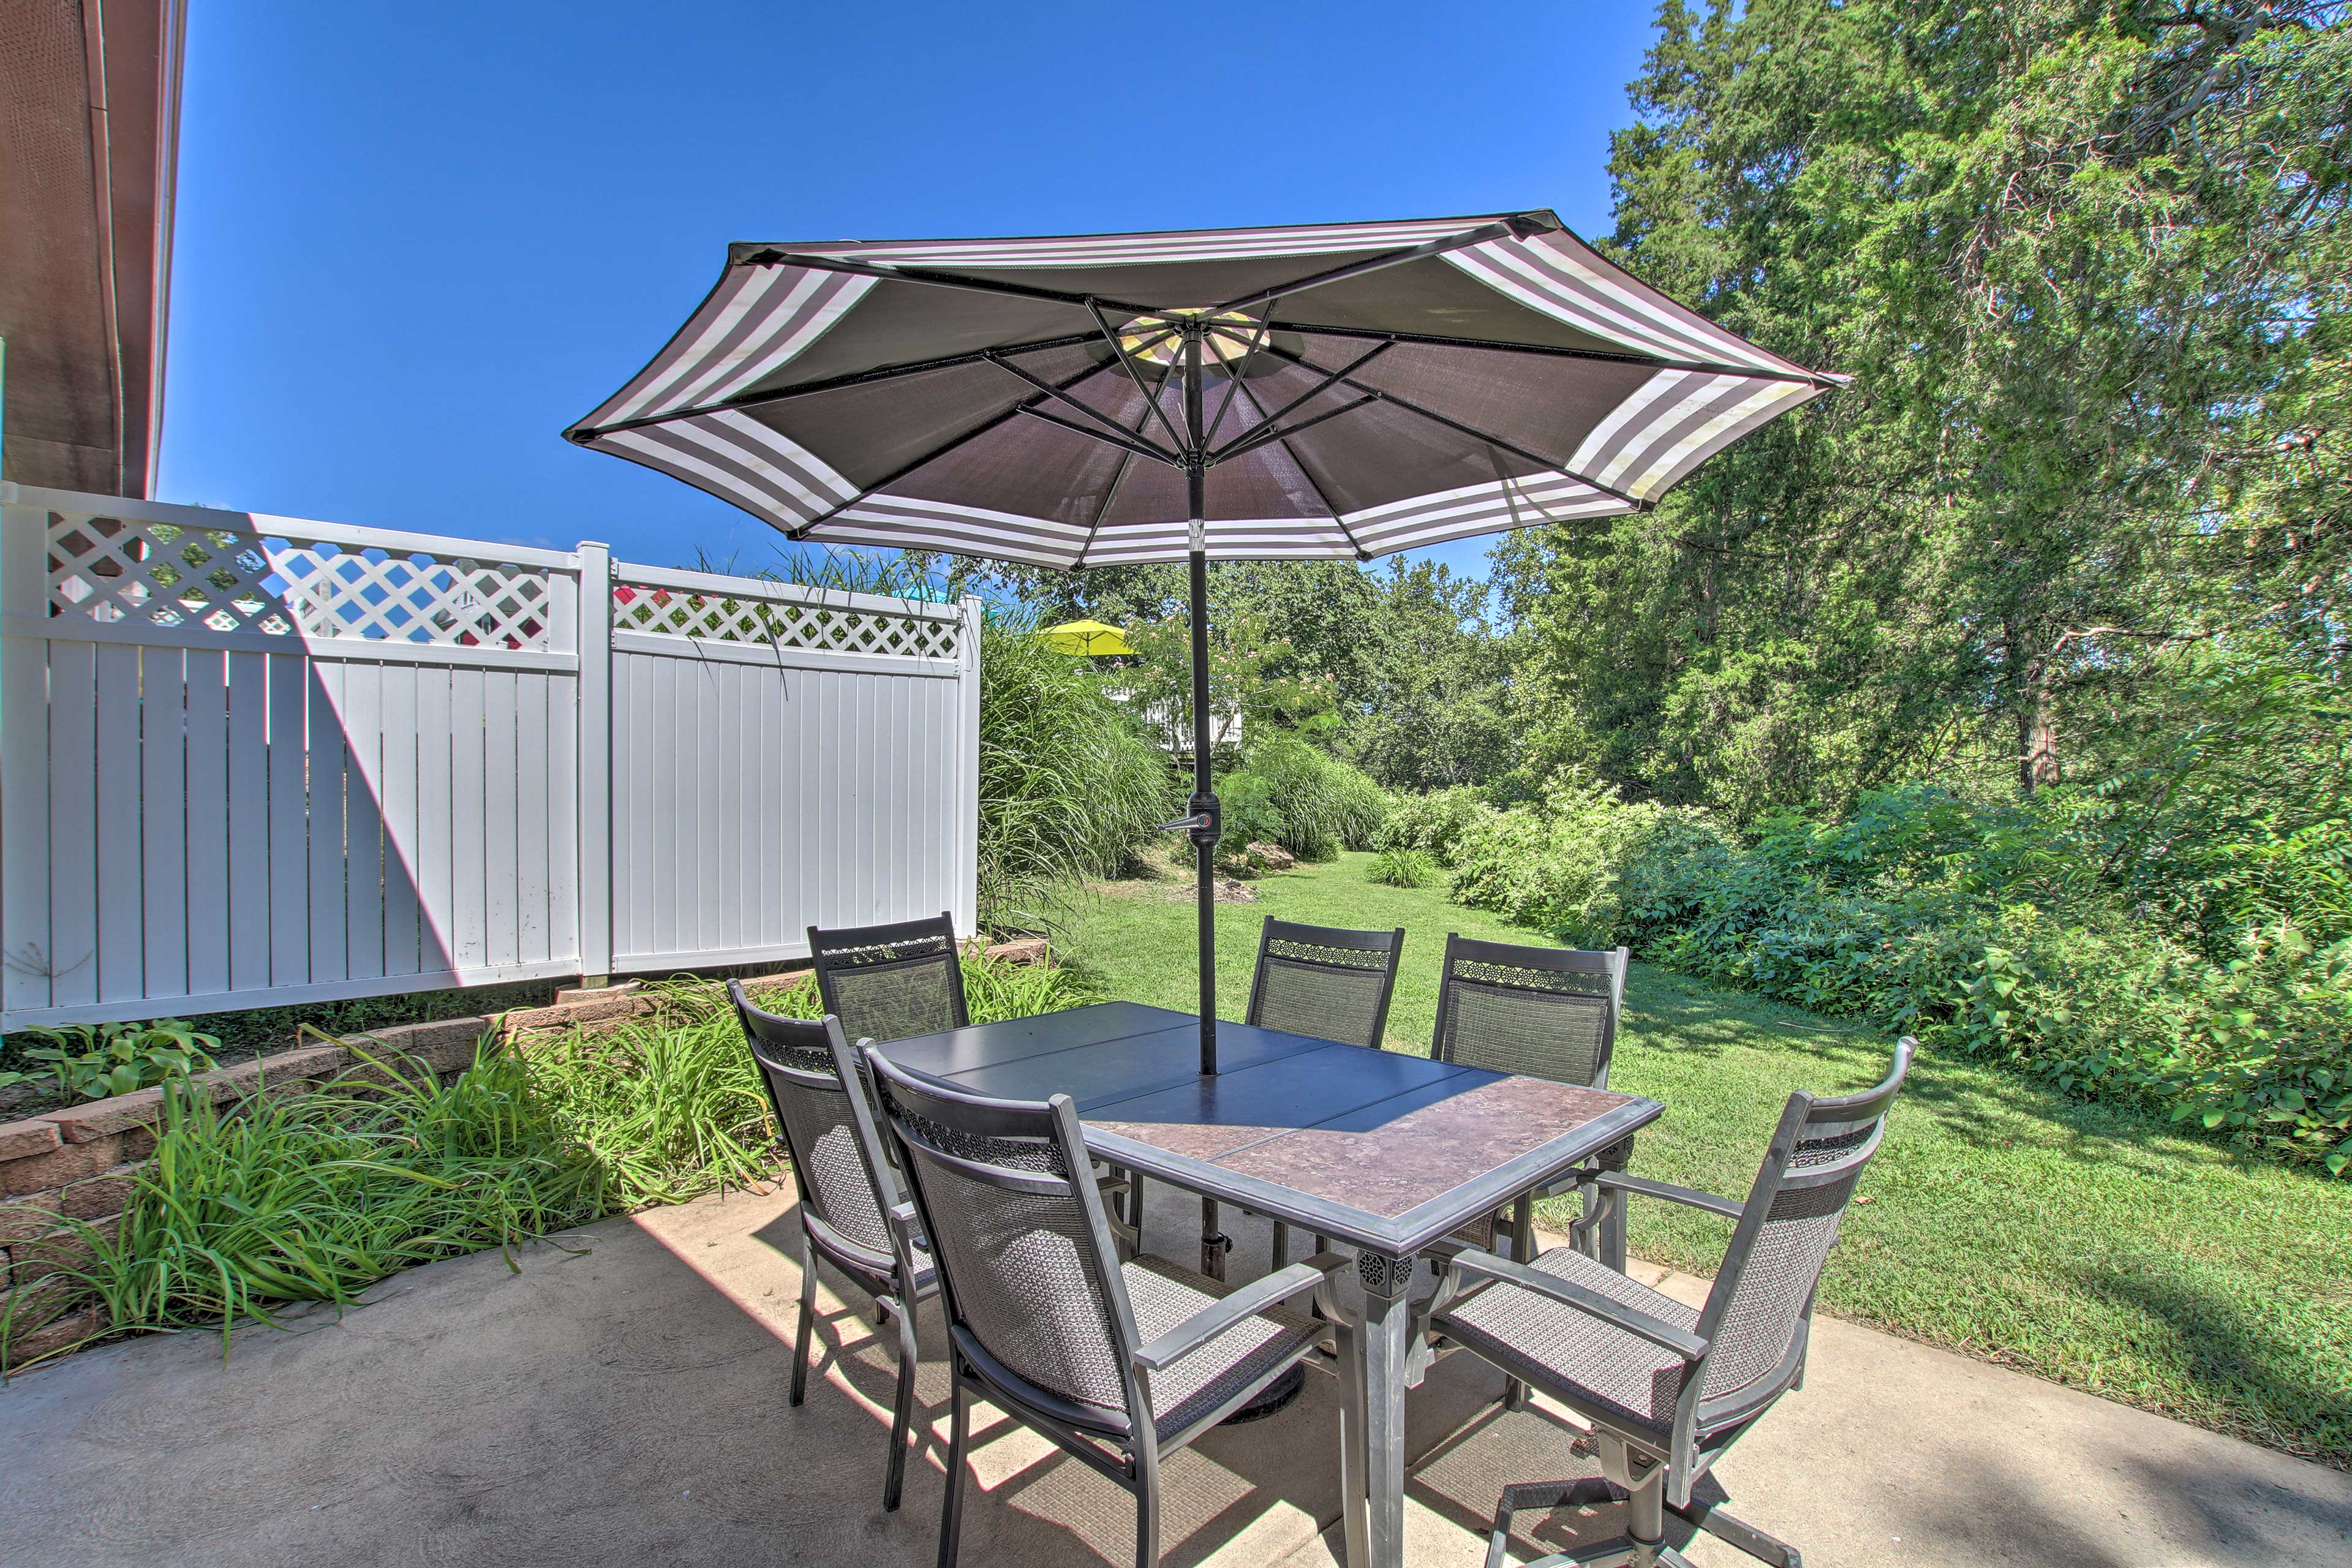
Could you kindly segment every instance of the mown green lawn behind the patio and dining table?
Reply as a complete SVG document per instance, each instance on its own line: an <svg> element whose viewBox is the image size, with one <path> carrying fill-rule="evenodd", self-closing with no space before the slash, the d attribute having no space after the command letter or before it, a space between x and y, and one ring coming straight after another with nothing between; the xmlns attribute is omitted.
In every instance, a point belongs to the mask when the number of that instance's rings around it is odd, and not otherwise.
<svg viewBox="0 0 2352 1568"><path fill-rule="evenodd" d="M1270 877L1218 907L1218 1011L1240 1018L1265 914L1404 926L1388 1044L1428 1051L1446 931L1543 940L1371 856ZM1112 997L1192 1006L1192 900L1115 884L1063 947ZM1635 1171L1740 1194L1792 1088L1886 1070L1891 1039L1632 966L1611 1086L1656 1095ZM1992 1065L1924 1056L1846 1213L1823 1305L1915 1340L2352 1469L2352 1182L2241 1161ZM1724 1225L1639 1204L1639 1255L1712 1274Z"/></svg>

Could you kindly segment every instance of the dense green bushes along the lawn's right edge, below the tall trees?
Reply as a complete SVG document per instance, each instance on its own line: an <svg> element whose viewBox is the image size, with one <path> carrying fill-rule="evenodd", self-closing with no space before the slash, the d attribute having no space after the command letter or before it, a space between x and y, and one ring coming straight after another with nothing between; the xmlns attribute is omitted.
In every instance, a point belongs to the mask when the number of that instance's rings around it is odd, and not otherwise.
<svg viewBox="0 0 2352 1568"><path fill-rule="evenodd" d="M2103 797L2074 790L2023 806L1884 790L1842 823L1771 820L1745 849L1668 816L1618 865L1618 912L1651 961L2352 1171L2352 938L2279 919L2216 954L2204 905L2100 879L2129 860L2098 849L2119 837ZM2223 898L2263 882L2225 860Z"/></svg>

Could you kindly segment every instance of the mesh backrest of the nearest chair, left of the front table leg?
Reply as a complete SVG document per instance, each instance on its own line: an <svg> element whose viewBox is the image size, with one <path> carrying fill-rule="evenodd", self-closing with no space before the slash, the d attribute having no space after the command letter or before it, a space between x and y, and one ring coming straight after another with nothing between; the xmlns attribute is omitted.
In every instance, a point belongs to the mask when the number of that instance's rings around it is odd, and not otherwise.
<svg viewBox="0 0 2352 1568"><path fill-rule="evenodd" d="M1049 1415L1124 1429L1141 1340L1070 1095L990 1100L866 1060L967 1359Z"/></svg>

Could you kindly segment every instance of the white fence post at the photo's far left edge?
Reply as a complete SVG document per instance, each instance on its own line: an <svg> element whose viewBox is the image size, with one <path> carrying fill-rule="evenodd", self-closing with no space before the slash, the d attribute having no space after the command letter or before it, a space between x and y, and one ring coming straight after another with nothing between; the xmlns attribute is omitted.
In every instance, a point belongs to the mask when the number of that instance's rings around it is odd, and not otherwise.
<svg viewBox="0 0 2352 1568"><path fill-rule="evenodd" d="M49 1006L49 512L0 484L0 1006ZM16 621L26 616L26 621ZM21 632L21 635L16 635Z"/></svg>

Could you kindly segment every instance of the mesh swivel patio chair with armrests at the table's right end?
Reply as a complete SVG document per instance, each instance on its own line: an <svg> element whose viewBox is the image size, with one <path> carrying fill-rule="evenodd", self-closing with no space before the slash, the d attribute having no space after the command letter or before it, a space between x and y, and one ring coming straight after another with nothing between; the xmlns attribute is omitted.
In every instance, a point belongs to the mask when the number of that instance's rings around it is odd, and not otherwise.
<svg viewBox="0 0 2352 1568"><path fill-rule="evenodd" d="M1886 1079L1863 1093L1823 1100L1792 1093L1745 1204L1611 1171L1597 1175L1618 1192L1736 1222L1698 1312L1573 1246L1534 1262L1482 1251L1446 1260L1430 1326L1566 1403L1590 1422L1599 1448L1599 1476L1526 1483L1503 1495L1489 1563L1503 1561L1515 1509L1623 1500L1623 1540L1545 1563L1686 1568L1665 1544L1672 1514L1748 1556L1795 1568L1795 1547L1724 1514L1715 1497L1693 1502L1691 1488L1804 1378L1813 1288L1915 1048L1912 1039L1898 1041Z"/></svg>

